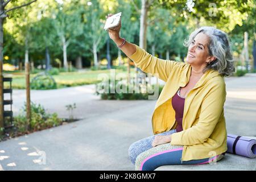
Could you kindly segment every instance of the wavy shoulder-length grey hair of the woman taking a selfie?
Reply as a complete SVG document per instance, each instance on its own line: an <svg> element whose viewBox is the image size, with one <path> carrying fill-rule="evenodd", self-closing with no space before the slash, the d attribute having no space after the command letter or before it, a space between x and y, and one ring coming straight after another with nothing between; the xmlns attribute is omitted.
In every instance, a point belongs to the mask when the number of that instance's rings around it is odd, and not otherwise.
<svg viewBox="0 0 256 182"><path fill-rule="evenodd" d="M185 40L184 46L188 47L200 32L203 32L209 37L209 55L216 57L214 61L203 69L203 73L208 69L213 69L218 71L222 76L231 76L235 68L228 35L214 27L201 27L192 32L189 39Z"/></svg>

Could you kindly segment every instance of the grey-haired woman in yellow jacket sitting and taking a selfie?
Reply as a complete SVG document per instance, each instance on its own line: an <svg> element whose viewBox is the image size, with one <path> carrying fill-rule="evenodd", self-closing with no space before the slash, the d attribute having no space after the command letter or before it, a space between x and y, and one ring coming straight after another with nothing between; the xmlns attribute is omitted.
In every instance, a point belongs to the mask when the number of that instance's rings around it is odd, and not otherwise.
<svg viewBox="0 0 256 182"><path fill-rule="evenodd" d="M158 59L120 38L120 29L121 23L108 30L115 44L136 67L166 82L152 115L154 136L129 148L135 169L221 160L227 150L224 76L234 72L228 36L214 27L195 30L184 43L187 63L179 63Z"/></svg>

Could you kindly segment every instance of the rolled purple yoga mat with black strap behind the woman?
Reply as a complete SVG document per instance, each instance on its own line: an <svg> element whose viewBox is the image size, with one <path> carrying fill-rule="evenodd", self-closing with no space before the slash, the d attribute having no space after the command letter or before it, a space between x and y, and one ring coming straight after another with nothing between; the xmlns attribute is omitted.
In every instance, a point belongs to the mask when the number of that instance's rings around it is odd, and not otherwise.
<svg viewBox="0 0 256 182"><path fill-rule="evenodd" d="M227 138L229 153L246 156L247 158L256 157L256 140L238 135L228 134Z"/></svg>

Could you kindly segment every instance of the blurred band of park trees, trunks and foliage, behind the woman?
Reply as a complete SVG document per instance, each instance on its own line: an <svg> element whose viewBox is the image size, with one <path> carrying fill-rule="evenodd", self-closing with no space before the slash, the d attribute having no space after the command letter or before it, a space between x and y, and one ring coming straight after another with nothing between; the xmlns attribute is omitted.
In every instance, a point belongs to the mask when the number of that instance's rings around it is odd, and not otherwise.
<svg viewBox="0 0 256 182"><path fill-rule="evenodd" d="M6 8L28 1L11 1ZM237 69L254 72L255 1L44 0L10 11L3 22L5 71L110 69L127 65L104 31L105 15L122 12L121 37L162 59L184 61L184 39L201 26L229 34ZM55 69L55 72L57 70ZM14 85L15 86L15 83Z"/></svg>

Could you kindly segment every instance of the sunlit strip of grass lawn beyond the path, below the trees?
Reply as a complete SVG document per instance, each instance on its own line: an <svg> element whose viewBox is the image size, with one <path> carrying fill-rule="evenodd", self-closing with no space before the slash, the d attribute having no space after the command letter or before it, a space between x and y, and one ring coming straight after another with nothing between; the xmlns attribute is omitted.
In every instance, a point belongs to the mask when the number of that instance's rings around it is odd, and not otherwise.
<svg viewBox="0 0 256 182"><path fill-rule="evenodd" d="M115 76L118 73L122 73L121 77L126 77L127 72L122 69L114 69ZM84 71L84 72L61 72L59 75L53 75L52 77L55 79L57 83L57 88L64 88L69 86L78 86L78 85L87 85L87 84L97 84L100 82L100 74L106 74L110 77L110 70L98 70L98 71ZM131 69L131 73L134 73L134 69ZM37 74L30 75L30 81ZM8 72L4 73L4 77L12 77L12 87L13 89L25 89L25 74L23 72ZM9 82L4 83L5 88L9 88Z"/></svg>

